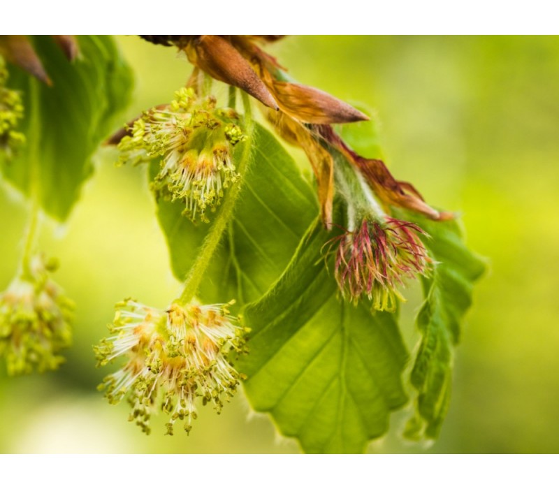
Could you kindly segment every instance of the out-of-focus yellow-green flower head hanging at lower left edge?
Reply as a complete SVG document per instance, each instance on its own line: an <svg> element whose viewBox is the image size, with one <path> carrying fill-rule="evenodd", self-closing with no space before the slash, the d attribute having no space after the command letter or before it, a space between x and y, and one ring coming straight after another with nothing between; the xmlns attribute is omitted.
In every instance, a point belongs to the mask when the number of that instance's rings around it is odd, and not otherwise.
<svg viewBox="0 0 559 489"><path fill-rule="evenodd" d="M55 264L38 255L29 268L0 294L0 355L10 375L55 370L71 344L73 302L49 277Z"/></svg>

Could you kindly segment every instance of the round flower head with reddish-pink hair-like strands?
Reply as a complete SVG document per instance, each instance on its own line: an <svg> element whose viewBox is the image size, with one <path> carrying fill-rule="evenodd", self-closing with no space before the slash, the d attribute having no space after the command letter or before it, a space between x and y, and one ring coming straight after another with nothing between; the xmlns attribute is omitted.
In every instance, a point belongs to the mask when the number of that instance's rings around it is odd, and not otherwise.
<svg viewBox="0 0 559 489"><path fill-rule="evenodd" d="M430 258L416 224L393 217L363 219L354 231L334 238L335 278L344 298L367 297L378 310L393 310L402 298L398 286L423 275Z"/></svg>

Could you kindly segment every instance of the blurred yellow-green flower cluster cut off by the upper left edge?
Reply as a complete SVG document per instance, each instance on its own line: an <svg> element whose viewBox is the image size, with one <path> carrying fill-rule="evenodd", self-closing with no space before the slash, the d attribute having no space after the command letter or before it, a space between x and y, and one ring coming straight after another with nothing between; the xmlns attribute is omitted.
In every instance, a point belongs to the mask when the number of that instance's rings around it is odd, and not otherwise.
<svg viewBox="0 0 559 489"><path fill-rule="evenodd" d="M0 149L11 156L13 150L24 143L25 137L15 130L23 117L22 99L18 92L6 87L7 81L8 70L0 56Z"/></svg>

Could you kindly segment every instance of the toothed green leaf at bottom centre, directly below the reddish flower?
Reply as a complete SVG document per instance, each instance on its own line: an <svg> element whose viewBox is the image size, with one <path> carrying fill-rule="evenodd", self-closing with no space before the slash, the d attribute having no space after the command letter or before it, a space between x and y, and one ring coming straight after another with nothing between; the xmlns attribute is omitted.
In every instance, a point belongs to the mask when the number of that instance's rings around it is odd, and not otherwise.
<svg viewBox="0 0 559 489"><path fill-rule="evenodd" d="M407 351L393 314L338 298L314 224L279 281L245 309L245 393L310 453L361 453L405 404Z"/></svg>

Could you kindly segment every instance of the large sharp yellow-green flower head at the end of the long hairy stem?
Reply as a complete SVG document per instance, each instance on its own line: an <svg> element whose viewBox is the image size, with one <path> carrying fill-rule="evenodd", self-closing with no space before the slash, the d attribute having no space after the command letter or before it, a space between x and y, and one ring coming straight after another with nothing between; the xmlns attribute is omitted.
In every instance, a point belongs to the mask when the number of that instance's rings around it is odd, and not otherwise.
<svg viewBox="0 0 559 489"><path fill-rule="evenodd" d="M246 330L235 325L227 306L172 304L161 310L133 300L117 304L109 325L112 336L95 347L98 365L126 358L99 386L109 402L126 397L132 408L129 421L136 420L147 434L158 407L170 415L168 435L173 435L177 420L190 432L196 397L214 404L219 413L242 378L228 354L245 351Z"/></svg>

